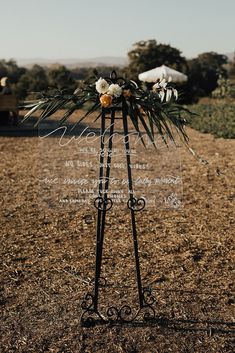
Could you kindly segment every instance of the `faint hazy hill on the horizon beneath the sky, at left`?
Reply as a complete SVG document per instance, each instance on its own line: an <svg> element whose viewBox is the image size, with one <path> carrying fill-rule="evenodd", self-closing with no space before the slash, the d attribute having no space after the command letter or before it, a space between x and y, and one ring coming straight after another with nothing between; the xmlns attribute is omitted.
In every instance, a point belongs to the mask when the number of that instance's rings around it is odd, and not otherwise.
<svg viewBox="0 0 235 353"><path fill-rule="evenodd" d="M112 57L112 56L103 56L90 59L45 59L45 58L32 58L32 59L17 59L17 64L19 66L30 68L34 64L41 66L52 66L55 64L65 65L69 69L75 67L96 67L96 66L125 66L127 65L128 60L125 57Z"/></svg>

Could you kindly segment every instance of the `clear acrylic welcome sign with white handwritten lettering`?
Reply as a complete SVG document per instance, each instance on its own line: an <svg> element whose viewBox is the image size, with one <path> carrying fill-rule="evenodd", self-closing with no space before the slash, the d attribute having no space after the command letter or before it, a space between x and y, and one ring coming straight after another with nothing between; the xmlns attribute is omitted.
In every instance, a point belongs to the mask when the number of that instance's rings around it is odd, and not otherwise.
<svg viewBox="0 0 235 353"><path fill-rule="evenodd" d="M100 118L101 119L101 118ZM113 207L126 209L129 199L127 155L131 164L132 191L144 198L146 208L179 209L182 205L182 179L178 148L168 146L156 134L155 146L144 136L145 146L129 124L129 150L125 149L122 119L115 119L110 149L110 119L107 116L103 146L100 146L100 119L87 119L73 125L42 123L39 128L40 199L52 208L93 205L99 185L107 186ZM94 120L94 119L93 119ZM100 161L100 153L103 158ZM107 161L109 156L110 161ZM102 178L99 170L103 169ZM110 167L110 175L106 175ZM103 195L101 195L103 196Z"/></svg>

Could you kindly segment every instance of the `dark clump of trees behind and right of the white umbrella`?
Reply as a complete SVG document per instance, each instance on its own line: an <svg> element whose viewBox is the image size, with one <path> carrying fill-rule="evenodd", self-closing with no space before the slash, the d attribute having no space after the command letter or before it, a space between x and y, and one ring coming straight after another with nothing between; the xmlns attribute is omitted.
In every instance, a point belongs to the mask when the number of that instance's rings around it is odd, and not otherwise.
<svg viewBox="0 0 235 353"><path fill-rule="evenodd" d="M160 65L167 65L188 76L182 86L182 102L197 102L200 97L209 96L217 87L219 75L226 77L224 64L228 58L215 52L202 53L197 58L186 61L181 52L155 40L140 41L128 53L129 66L125 71L129 77L138 79L138 74ZM176 85L177 86L177 85Z"/></svg>

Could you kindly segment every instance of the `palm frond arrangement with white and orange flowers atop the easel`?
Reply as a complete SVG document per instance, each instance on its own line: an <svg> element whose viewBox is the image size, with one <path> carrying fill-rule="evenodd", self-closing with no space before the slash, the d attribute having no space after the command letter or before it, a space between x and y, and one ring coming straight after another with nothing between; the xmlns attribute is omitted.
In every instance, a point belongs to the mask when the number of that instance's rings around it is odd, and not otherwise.
<svg viewBox="0 0 235 353"><path fill-rule="evenodd" d="M73 128L84 120L89 114L97 111L99 118L102 109L110 109L115 106L122 106L130 117L137 133L142 138L142 130L154 143L155 133L159 133L167 144L168 138L175 141L174 130L177 131L181 139L187 145L188 137L184 130L187 120L185 116L192 113L177 104L178 92L169 85L164 78L155 83L151 90L139 87L134 81L117 77L115 71L110 77L99 77L95 73L95 79L84 83L83 87L75 90L73 94L66 91L52 90L42 94L42 98L37 101L28 102L25 108L29 111L25 114L27 120L36 111L41 111L37 124L53 115L61 109L65 113L61 117L59 124L62 125L74 111L81 109L86 102L93 102L87 112L76 122ZM174 129L173 129L174 128Z"/></svg>

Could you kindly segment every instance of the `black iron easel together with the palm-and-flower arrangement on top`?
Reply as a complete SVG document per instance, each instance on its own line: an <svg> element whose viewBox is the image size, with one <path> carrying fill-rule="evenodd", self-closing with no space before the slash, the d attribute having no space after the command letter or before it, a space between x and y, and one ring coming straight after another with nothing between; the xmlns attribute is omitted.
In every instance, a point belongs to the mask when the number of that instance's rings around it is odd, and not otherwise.
<svg viewBox="0 0 235 353"><path fill-rule="evenodd" d="M96 73L96 78L98 73ZM39 100L29 102L25 108L30 109L25 115L23 121L29 119L37 110L40 110L37 124L42 123L46 118L52 116L55 112L64 108L65 113L60 120L60 124L64 123L77 109L81 109L86 102L91 102L90 107L85 115L72 127L72 129L81 123L88 115L102 107L100 128L100 152L99 152L99 188L98 196L94 200L94 206L97 209L97 226L96 226L96 265L95 265L95 280L94 291L88 293L83 302L83 313L81 322L83 325L92 325L96 321L107 323L110 321L117 322L132 322L141 317L143 320L153 320L156 314L153 308L155 302L149 288L143 288L141 283L140 260L138 254L138 239L136 230L136 212L145 208L145 199L136 198L133 191L132 169L131 169L131 149L130 136L128 130L128 117L133 123L133 126L138 133L138 137L143 141L139 126L147 134L151 143L155 146L154 130L158 132L160 138L168 145L169 141L175 141L172 128L176 129L181 136L188 150L193 153L201 162L203 161L197 154L188 146L188 136L184 130L187 120L185 114L192 114L181 105L171 104L171 97L177 100L177 90L166 85L165 80L158 82L152 87L152 90L143 89L132 80L126 80L117 77L115 71L112 71L110 78L100 77L93 83L84 83L83 88L78 88L73 94L67 94L66 90L54 90L52 93L44 93ZM111 104L113 105L109 107ZM109 108L105 108L105 106ZM135 255L136 281L139 298L139 308L135 311L128 305L121 308L116 306L108 307L104 310L99 310L99 289L101 286L101 266L102 254L105 235L106 214L113 206L113 200L109 197L109 179L111 173L111 160L113 151L113 136L116 112L121 110L121 119L123 122L124 133L124 151L126 156L126 168L128 177L128 201L127 207L130 210L132 237ZM109 116L110 114L110 116ZM106 121L110 119L109 134L106 129ZM67 128L66 128L67 129ZM105 136L106 135L106 136ZM108 138L108 153L105 153L105 138ZM156 147L156 146L155 146ZM176 204L175 197L170 198L171 203Z"/></svg>

